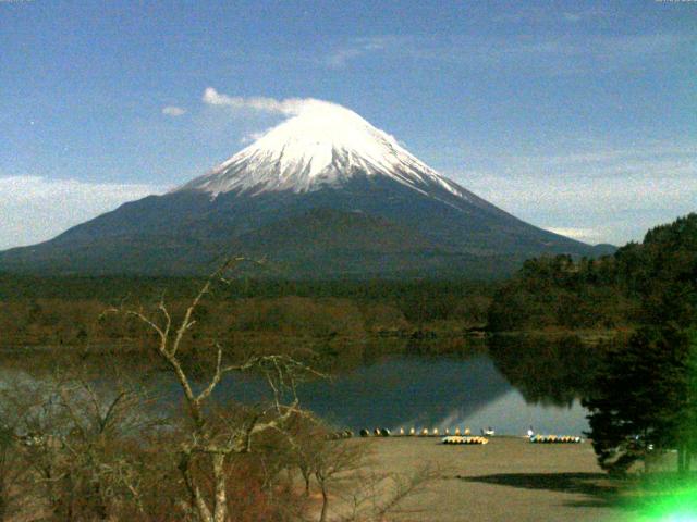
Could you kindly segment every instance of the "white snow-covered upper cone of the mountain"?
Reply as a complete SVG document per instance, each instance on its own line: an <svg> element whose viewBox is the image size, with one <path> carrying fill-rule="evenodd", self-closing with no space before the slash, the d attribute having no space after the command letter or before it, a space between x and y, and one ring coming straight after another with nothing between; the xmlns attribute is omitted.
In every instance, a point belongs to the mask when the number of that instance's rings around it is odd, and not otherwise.
<svg viewBox="0 0 697 522"><path fill-rule="evenodd" d="M421 192L438 185L464 196L392 136L355 112L320 100L306 100L296 115L178 190L213 196L232 190L307 192L339 186L357 174L387 176Z"/></svg>

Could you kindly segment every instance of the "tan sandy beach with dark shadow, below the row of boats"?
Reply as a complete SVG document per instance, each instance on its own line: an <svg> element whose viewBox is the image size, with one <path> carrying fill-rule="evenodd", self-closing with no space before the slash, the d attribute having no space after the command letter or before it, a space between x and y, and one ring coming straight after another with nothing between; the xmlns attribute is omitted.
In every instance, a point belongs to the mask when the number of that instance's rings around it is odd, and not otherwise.
<svg viewBox="0 0 697 522"><path fill-rule="evenodd" d="M485 446L447 446L439 438L391 437L357 442L370 447L381 472L438 469L435 480L405 498L399 521L615 521L611 485L585 444L530 444L492 437Z"/></svg>

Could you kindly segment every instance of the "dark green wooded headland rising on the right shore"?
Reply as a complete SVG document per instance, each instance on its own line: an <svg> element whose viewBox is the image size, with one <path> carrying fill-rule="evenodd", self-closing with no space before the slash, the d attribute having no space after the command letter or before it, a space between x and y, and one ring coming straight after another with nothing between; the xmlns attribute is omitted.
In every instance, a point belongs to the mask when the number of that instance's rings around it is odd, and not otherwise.
<svg viewBox="0 0 697 522"><path fill-rule="evenodd" d="M501 287L489 311L492 331L634 328L674 319L685 307L685 283L697 239L697 214L646 234L613 256L574 261L568 256L526 261ZM680 276L676 274L680 273ZM651 306L653 304L653 306Z"/></svg>

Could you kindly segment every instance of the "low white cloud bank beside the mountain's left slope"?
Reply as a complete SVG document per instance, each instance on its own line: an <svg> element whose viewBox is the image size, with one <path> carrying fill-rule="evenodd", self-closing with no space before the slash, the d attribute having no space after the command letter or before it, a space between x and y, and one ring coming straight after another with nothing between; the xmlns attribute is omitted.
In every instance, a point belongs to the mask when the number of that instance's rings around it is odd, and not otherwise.
<svg viewBox="0 0 697 522"><path fill-rule="evenodd" d="M145 184L0 177L0 249L45 241L121 203L157 191Z"/></svg>

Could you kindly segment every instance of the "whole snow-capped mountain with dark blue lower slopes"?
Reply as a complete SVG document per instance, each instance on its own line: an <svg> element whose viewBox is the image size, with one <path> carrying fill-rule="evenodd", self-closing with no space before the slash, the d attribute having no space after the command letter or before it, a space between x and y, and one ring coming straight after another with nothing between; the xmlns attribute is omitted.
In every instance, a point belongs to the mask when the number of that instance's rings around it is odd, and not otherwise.
<svg viewBox="0 0 697 522"><path fill-rule="evenodd" d="M310 100L207 174L0 252L0 270L197 274L246 254L286 277L489 277L545 253L606 252L512 216L355 112Z"/></svg>

